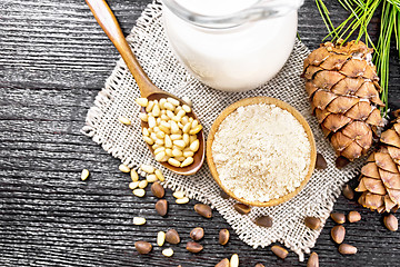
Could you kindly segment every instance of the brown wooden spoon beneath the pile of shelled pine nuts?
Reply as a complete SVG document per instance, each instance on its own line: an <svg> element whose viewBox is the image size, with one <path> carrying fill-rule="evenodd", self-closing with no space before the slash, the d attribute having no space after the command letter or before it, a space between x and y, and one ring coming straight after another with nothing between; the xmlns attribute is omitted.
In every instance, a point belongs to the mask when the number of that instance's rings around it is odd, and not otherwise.
<svg viewBox="0 0 400 267"><path fill-rule="evenodd" d="M104 0L86 0L90 10L94 14L94 18L104 30L107 36L110 38L112 43L116 46L117 50L120 52L122 59L127 63L128 69L132 73L134 80L138 83L140 95L143 98L148 98L149 100L159 100L161 98L174 98L179 100L181 105L186 103L183 100L177 98L176 96L166 92L159 89L154 83L151 82L149 77L146 75L144 70L140 67L137 58L134 57L132 50L130 49L121 28L118 24L116 17L113 16L112 11L110 10L109 6ZM132 103L136 105L136 103ZM143 112L144 109L142 109ZM189 117L199 120L193 112L188 113ZM141 121L141 127L148 127L147 122ZM204 161L204 150L206 150L206 142L204 142L204 134L203 131L198 132L198 139L200 141L199 150L193 156L193 164L180 168L169 165L168 162L160 162L166 168L180 174L180 175L193 175L196 174L202 166ZM154 156L153 149L149 146L151 154Z"/></svg>

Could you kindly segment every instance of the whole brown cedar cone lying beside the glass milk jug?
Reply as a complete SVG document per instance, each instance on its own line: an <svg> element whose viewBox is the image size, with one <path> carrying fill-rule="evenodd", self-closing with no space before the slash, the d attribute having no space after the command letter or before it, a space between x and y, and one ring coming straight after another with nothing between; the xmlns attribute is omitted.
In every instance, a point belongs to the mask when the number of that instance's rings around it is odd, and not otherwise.
<svg viewBox="0 0 400 267"><path fill-rule="evenodd" d="M383 126L372 52L361 41L326 42L304 60L302 77L312 112L337 155L349 160L366 155L372 131Z"/></svg>

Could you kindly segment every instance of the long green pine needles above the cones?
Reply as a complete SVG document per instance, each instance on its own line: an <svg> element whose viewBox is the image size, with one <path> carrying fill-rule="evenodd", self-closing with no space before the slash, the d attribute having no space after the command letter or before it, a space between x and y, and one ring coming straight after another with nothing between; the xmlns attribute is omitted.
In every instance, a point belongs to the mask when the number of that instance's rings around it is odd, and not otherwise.
<svg viewBox="0 0 400 267"><path fill-rule="evenodd" d="M386 113L388 111L389 56L392 37L394 37L400 58L400 0L338 0L338 2L350 13L343 22L334 28L323 0L316 0L329 32L323 40L331 39L334 42L342 39L344 43L357 33L357 41L363 39L367 46L371 46L376 50L373 62L380 76L381 100L386 105L381 111ZM368 33L368 26L379 7L382 7L381 26L378 43L374 46Z"/></svg>

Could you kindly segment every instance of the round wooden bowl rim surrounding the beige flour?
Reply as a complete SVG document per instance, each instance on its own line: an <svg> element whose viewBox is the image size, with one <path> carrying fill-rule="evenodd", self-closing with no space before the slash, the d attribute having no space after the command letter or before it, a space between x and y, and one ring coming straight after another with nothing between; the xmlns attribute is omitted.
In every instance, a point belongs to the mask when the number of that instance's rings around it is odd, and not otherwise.
<svg viewBox="0 0 400 267"><path fill-rule="evenodd" d="M289 192L288 195L284 195L280 198L276 198L272 199L270 201L249 201L246 200L243 198L239 198L236 195L233 195L232 191L228 190L221 182L221 180L218 177L218 172L217 172L217 168L216 165L213 162L213 158L212 158L212 142L214 140L214 135L218 131L218 128L220 126L220 123L227 118L228 115L230 115L231 112L233 112L234 110L237 110L239 107L243 107L243 106L249 106L249 105L254 105L254 103L267 103L267 105L274 105L283 110L287 110L288 112L290 112L300 123L301 126L304 128L304 131L307 134L308 140L310 141L310 146L311 146L311 155L310 155L310 166L309 166L309 170L303 179L303 181L300 184L300 186L298 188L296 188L294 191ZM211 170L211 175L213 177L213 179L217 181L217 184L222 188L223 191L226 191L231 198L237 199L240 202L250 205L250 206L258 206L258 207L270 207L270 206L276 206L279 205L281 202L288 201L289 199L291 199L292 197L294 197L306 185L307 182L310 180L310 177L312 175L312 171L314 169L316 166L316 158L317 158L317 148L316 148L316 141L312 135L312 131L310 129L310 126L308 125L307 120L304 119L304 117L301 116L301 113L296 110L292 106L290 106L287 102L283 102L279 99L276 98L269 98L269 97L254 97L254 98L246 98L242 99L238 102L232 103L231 106L229 106L228 108L226 108L220 116L218 116L218 118L216 119L216 121L213 122L210 134L208 136L207 139L207 162L210 167Z"/></svg>

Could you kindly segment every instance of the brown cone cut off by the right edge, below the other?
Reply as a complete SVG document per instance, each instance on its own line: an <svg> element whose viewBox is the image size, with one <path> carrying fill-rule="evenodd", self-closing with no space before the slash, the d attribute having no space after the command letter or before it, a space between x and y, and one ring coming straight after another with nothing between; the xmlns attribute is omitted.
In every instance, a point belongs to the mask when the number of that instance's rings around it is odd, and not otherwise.
<svg viewBox="0 0 400 267"><path fill-rule="evenodd" d="M400 206L400 117L382 132L380 142L362 167L356 190L362 192L359 204L363 207L394 212Z"/></svg>

